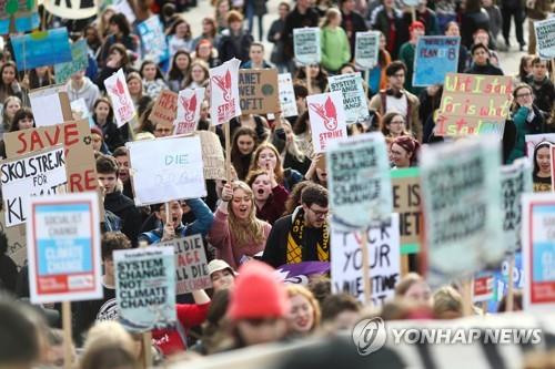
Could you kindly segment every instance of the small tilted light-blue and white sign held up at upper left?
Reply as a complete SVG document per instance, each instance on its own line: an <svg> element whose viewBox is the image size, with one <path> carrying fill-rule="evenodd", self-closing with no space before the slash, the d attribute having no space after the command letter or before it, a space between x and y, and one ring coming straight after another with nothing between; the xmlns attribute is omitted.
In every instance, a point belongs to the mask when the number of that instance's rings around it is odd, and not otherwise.
<svg viewBox="0 0 555 369"><path fill-rule="evenodd" d="M144 22L137 24L137 29L141 37L143 60L150 60L158 64L170 59L164 29L158 16L152 16Z"/></svg>

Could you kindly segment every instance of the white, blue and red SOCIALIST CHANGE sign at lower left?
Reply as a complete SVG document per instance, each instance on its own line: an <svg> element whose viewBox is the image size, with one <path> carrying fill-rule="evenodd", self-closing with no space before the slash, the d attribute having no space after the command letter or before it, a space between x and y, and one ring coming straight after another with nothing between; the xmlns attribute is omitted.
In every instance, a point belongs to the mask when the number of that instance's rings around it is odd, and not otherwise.
<svg viewBox="0 0 555 369"><path fill-rule="evenodd" d="M102 298L97 194L34 197L28 212L31 303Z"/></svg>

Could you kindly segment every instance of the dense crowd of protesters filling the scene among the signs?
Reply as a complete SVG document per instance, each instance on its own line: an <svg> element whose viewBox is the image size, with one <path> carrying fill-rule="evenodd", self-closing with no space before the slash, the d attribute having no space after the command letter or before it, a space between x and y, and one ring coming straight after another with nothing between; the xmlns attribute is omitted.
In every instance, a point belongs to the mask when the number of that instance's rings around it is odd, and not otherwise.
<svg viewBox="0 0 555 369"><path fill-rule="evenodd" d="M141 337L117 322L112 253L194 234L205 242L213 288L208 294L196 290L179 297L178 320L183 329L153 332L151 349L157 362L183 351L204 356L334 335L375 315L386 319L463 316L458 286L432 291L415 273L403 276L395 299L379 310L362 306L347 294L332 294L326 275L311 278L307 286L284 285L273 277L273 268L330 262L331 257L325 155L313 152L306 96L325 92L329 75L356 71L356 32L380 31L379 63L364 81L371 119L351 125L349 132L382 132L392 168L417 166L422 145L444 141L434 134L434 112L443 86L412 85L414 45L422 35L460 35L458 72L514 78L514 102L503 135L503 160L512 163L526 155L525 135L555 133L553 63L537 57L533 30L534 21L554 11L552 1L420 0L413 18L411 8L396 0L297 0L279 3L279 18L268 33L262 21L268 13L265 0L214 1L214 16L205 17L201 29L192 29L188 21L196 17L196 1L132 0L130 6L137 18L132 24L112 7L103 7L98 18L87 21L43 18L47 29L62 24L73 41L87 40L89 68L72 75L65 86L71 101L84 99L92 116L91 137L105 211L101 224L104 298L72 304L75 366L138 367ZM155 14L164 24L170 50L170 60L159 64L143 59L137 31L138 23ZM512 48L512 18L522 60L518 70L507 71L500 66L498 51ZM529 24L528 40L524 39L525 22ZM321 64L295 64L293 30L303 27L321 28ZM273 44L272 50L265 50L263 39ZM54 84L53 68L18 71L12 57L7 42L0 54L2 135L34 127L34 115L41 112L30 110L28 93ZM208 86L209 70L232 58L241 60L241 68L292 73L299 115L234 119L230 123L231 183L206 181L205 198L135 206L125 142L171 135L171 126L149 119L158 95L163 90ZM120 69L139 116L131 129L118 127L105 96L104 80ZM307 74L311 85L306 84ZM199 130L222 135L210 123L209 99L201 106ZM541 143L531 154L535 191L551 191L549 153L549 144ZM0 156L6 157L3 141ZM4 255L7 245L2 235L0 287L26 300L28 269L18 270ZM515 309L521 306L518 296ZM0 298L0 368L63 365L59 309L58 305L23 307L11 298Z"/></svg>

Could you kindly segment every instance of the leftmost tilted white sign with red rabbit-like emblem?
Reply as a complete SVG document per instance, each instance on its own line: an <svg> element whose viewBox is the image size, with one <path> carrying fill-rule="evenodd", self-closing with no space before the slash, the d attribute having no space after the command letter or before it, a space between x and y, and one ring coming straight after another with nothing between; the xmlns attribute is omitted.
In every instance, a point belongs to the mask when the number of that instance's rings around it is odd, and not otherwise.
<svg viewBox="0 0 555 369"><path fill-rule="evenodd" d="M135 107L129 93L123 70L120 69L112 76L105 79L104 86L112 101L113 115L115 115L118 127L121 127L135 115Z"/></svg>

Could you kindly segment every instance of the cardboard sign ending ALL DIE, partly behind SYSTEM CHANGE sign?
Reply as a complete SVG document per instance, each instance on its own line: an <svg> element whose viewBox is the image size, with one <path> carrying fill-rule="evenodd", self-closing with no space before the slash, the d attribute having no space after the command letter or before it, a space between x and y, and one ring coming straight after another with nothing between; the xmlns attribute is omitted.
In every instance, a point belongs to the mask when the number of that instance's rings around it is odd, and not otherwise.
<svg viewBox="0 0 555 369"><path fill-rule="evenodd" d="M172 247L175 253L175 288L178 295L212 287L201 235L174 238L158 246Z"/></svg>

